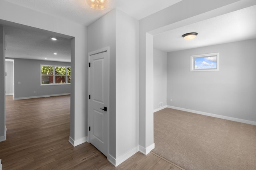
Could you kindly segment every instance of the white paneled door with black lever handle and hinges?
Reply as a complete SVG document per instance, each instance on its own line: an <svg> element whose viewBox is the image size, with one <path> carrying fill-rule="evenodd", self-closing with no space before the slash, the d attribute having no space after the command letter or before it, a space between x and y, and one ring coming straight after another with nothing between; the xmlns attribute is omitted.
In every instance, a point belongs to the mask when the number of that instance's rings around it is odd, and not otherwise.
<svg viewBox="0 0 256 170"><path fill-rule="evenodd" d="M90 143L107 156L109 119L109 48L89 53L88 125Z"/></svg>

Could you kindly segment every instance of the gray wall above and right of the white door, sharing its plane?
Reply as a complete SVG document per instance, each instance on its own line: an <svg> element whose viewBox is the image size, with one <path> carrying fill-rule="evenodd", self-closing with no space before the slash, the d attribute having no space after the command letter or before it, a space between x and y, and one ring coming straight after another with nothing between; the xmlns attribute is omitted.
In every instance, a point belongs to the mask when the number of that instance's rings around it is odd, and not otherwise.
<svg viewBox="0 0 256 170"><path fill-rule="evenodd" d="M104 47L110 47L109 154L116 158L116 10L88 26L88 52Z"/></svg>

